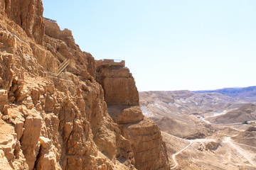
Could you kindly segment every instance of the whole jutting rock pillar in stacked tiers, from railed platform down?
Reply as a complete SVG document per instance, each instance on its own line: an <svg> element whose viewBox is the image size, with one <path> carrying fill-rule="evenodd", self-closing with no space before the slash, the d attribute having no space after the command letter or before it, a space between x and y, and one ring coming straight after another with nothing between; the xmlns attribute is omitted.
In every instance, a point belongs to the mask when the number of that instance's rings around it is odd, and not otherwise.
<svg viewBox="0 0 256 170"><path fill-rule="evenodd" d="M169 169L157 125L139 108L139 93L124 61L96 61L97 81L105 91L108 113L132 144L137 169Z"/></svg>

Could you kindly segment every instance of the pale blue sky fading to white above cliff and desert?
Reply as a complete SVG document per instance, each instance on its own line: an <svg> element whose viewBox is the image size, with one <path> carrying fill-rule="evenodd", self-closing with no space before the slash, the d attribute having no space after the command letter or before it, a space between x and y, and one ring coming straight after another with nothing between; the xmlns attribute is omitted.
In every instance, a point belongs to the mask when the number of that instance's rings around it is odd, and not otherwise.
<svg viewBox="0 0 256 170"><path fill-rule="evenodd" d="M255 0L43 0L95 60L125 60L139 91L256 86Z"/></svg>

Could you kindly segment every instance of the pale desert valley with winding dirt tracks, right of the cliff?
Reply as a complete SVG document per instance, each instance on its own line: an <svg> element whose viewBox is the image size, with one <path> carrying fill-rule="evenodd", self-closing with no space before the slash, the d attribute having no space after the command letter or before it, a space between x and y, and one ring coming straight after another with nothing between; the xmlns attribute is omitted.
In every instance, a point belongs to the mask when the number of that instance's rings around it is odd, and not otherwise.
<svg viewBox="0 0 256 170"><path fill-rule="evenodd" d="M255 169L254 96L212 92L140 92L144 115L166 143L171 169ZM250 102L244 99L250 95Z"/></svg>

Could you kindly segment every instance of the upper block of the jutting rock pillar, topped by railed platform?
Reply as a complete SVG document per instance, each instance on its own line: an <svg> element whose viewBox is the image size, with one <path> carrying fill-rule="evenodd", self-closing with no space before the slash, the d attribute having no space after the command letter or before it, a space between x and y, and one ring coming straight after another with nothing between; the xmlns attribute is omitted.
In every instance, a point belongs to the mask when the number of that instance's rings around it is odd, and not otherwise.
<svg viewBox="0 0 256 170"><path fill-rule="evenodd" d="M134 78L124 61L96 61L97 81L102 85L108 105L139 106L139 94Z"/></svg>

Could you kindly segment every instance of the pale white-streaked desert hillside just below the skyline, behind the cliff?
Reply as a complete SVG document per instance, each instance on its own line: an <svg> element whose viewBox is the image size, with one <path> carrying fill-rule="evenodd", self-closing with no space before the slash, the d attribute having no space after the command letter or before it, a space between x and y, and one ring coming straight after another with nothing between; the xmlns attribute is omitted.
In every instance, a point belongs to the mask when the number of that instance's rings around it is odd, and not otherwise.
<svg viewBox="0 0 256 170"><path fill-rule="evenodd" d="M139 93L142 111L149 117L157 118L177 115L203 114L211 111L236 108L237 103L245 103L218 93L194 93L191 91L145 91Z"/></svg>

